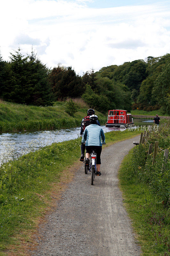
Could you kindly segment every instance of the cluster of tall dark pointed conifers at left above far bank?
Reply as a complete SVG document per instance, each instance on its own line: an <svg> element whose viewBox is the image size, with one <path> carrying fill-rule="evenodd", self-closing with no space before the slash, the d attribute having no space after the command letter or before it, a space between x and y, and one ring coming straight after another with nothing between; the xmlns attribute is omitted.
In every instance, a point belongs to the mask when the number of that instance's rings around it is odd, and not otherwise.
<svg viewBox="0 0 170 256"><path fill-rule="evenodd" d="M11 53L10 59L4 99L22 104L52 105L48 68L36 58L33 50L25 57L18 48Z"/></svg>

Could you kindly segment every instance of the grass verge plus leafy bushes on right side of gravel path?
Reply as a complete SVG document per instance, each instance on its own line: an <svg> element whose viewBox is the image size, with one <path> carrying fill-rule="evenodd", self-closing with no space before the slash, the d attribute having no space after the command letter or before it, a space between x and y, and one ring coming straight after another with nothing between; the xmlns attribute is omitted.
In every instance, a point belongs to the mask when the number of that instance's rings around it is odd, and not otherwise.
<svg viewBox="0 0 170 256"><path fill-rule="evenodd" d="M163 150L169 147L167 122L158 133L147 138L149 143L159 141ZM139 145L125 157L119 172L125 205L137 232L144 256L170 255L170 202L169 158L162 169L164 152L159 149L152 165L153 151L148 153L149 144Z"/></svg>

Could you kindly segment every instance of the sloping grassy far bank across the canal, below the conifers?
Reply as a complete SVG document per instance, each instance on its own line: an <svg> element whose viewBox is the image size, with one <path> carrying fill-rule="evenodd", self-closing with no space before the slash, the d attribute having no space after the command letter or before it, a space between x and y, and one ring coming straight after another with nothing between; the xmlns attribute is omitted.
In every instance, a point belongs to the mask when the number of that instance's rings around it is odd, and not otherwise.
<svg viewBox="0 0 170 256"><path fill-rule="evenodd" d="M64 102L57 101L52 107L26 106L0 101L0 132L39 131L76 127L87 115L88 107L76 101L78 112L72 117L65 112ZM96 111L102 125L107 116Z"/></svg>

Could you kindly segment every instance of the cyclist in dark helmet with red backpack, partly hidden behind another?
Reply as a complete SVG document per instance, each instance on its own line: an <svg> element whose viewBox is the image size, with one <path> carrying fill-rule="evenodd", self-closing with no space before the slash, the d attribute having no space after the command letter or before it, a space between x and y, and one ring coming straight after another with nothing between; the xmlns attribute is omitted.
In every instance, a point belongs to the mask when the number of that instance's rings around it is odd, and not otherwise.
<svg viewBox="0 0 170 256"><path fill-rule="evenodd" d="M80 135L83 136L83 133L84 133L84 130L85 128L90 125L90 116L94 115L95 114L95 111L94 109L90 108L87 110L87 116L85 116L83 119L82 119L82 122L81 122L81 131L80 131ZM100 123L99 121L97 120L97 124L100 126ZM80 161L84 161L84 157L85 157L85 144L84 143L81 143L81 157L80 157Z"/></svg>

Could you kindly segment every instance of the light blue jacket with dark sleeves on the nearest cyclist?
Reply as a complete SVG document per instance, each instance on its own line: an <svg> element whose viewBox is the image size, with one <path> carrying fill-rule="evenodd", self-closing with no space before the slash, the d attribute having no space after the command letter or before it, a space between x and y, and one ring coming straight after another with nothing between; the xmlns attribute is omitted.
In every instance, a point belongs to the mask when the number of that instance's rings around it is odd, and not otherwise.
<svg viewBox="0 0 170 256"><path fill-rule="evenodd" d="M105 143L104 132L99 125L90 124L85 128L81 142L85 146L102 146Z"/></svg>

